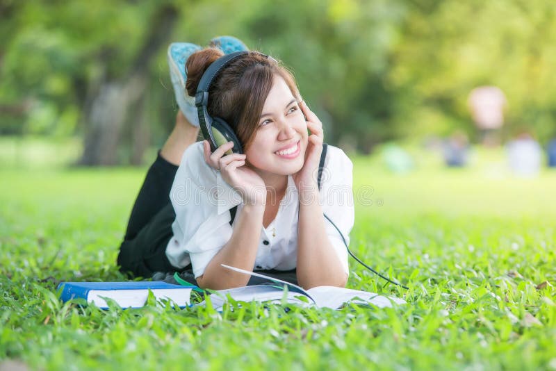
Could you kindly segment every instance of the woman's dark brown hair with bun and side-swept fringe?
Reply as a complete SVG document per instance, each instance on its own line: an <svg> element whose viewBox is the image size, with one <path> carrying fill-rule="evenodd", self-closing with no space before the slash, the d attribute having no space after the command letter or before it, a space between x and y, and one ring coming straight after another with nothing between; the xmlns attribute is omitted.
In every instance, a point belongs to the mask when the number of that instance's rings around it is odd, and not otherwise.
<svg viewBox="0 0 556 371"><path fill-rule="evenodd" d="M197 85L208 66L223 55L220 49L206 48L188 58L186 90L191 97L195 97ZM208 88L208 114L224 119L236 132L244 150L255 138L275 76L284 79L293 96L300 99L288 69L257 52L247 53L224 67Z"/></svg>

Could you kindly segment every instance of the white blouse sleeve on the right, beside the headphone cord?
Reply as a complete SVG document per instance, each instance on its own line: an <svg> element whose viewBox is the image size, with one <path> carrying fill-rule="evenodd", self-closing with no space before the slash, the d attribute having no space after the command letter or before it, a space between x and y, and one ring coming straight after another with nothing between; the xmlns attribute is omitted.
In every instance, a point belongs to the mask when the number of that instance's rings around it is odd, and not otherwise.
<svg viewBox="0 0 556 371"><path fill-rule="evenodd" d="M352 161L341 149L328 145L325 166L320 179L320 205L322 212L336 224L348 246L350 245L350 232L355 220L352 184ZM325 229L344 271L349 274L347 249L340 233L326 218Z"/></svg>

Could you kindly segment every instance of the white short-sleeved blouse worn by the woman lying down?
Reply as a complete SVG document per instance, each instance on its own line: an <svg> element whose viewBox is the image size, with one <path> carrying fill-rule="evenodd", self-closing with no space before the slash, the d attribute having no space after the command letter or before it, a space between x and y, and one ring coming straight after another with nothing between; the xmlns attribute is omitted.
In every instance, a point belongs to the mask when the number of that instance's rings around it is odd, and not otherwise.
<svg viewBox="0 0 556 371"><path fill-rule="evenodd" d="M342 232L347 245L354 224L352 192L353 164L345 153L328 145L322 171L319 201L322 212ZM222 175L204 160L202 142L195 142L183 153L170 199L176 212L174 236L166 256L177 268L193 266L195 278L201 276L211 259L231 238L232 229L243 208L243 201ZM230 226L229 210L238 206ZM297 217L299 195L288 175L286 194L281 199L275 220L264 228L255 259L255 270L292 270L297 263ZM324 218L324 216L323 216ZM343 268L349 274L347 250L336 228L325 219L325 229Z"/></svg>

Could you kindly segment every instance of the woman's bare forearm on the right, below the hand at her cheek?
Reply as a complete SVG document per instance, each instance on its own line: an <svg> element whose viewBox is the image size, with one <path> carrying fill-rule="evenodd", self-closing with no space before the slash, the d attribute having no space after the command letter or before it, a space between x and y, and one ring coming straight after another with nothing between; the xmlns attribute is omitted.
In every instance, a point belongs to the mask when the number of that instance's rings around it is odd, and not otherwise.
<svg viewBox="0 0 556 371"><path fill-rule="evenodd" d="M318 193L313 197L306 196L300 202L297 228L297 281L306 289L316 286L344 287L347 274L327 236Z"/></svg>

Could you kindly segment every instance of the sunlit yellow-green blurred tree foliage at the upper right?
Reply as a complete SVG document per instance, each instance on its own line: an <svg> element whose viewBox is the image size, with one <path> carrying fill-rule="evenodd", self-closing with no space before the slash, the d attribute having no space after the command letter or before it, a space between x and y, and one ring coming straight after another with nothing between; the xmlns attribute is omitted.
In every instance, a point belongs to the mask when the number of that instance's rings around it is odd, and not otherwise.
<svg viewBox="0 0 556 371"><path fill-rule="evenodd" d="M397 135L473 131L467 106L477 85L508 100L507 131L555 132L556 2L407 1L389 71Z"/></svg>

